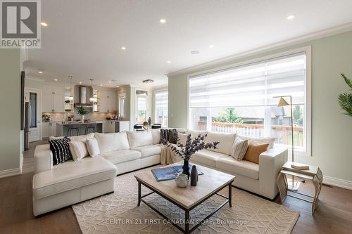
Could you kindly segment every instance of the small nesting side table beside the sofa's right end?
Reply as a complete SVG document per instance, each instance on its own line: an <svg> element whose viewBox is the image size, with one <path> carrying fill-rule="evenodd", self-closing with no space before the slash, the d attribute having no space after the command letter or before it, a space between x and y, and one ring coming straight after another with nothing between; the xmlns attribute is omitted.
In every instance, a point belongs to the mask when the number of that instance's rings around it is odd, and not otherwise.
<svg viewBox="0 0 352 234"><path fill-rule="evenodd" d="M292 194L289 194L287 176L296 176L304 180L313 181L313 185L315 188L315 195L310 196L304 193L298 193L298 191L290 191L290 193ZM299 200L310 202L312 203L312 214L314 214L315 208L318 206L318 202L319 202L318 197L320 194L320 190L322 188L322 171L320 170L319 167L316 167L313 165L309 165L309 169L298 170L291 167L291 162L286 162L282 166L279 176L277 176L277 186L279 187L281 202L284 202L287 196L295 197ZM310 197L310 200L303 197L296 196L294 195L295 193L304 197Z"/></svg>

